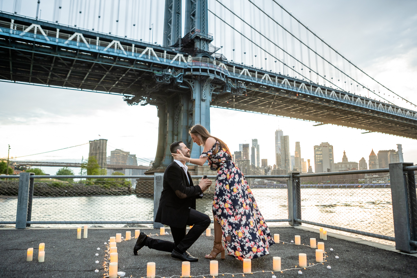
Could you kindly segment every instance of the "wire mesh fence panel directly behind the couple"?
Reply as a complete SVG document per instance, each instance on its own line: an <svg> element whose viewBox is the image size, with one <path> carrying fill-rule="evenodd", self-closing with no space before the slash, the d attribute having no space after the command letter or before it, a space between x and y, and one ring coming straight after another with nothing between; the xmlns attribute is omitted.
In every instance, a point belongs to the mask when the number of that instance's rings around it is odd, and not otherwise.
<svg viewBox="0 0 417 278"><path fill-rule="evenodd" d="M204 192L203 198L196 200L196 209L213 220L212 206L216 179L211 180L213 184ZM286 180L249 178L247 181L265 220L288 219ZM197 185L199 179L193 179L193 183ZM268 225L288 225L288 222L271 222Z"/></svg>

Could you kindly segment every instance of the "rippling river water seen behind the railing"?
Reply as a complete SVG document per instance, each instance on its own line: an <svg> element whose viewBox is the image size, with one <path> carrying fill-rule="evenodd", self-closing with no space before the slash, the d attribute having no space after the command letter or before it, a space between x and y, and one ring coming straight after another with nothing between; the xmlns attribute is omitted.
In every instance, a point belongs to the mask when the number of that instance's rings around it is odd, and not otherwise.
<svg viewBox="0 0 417 278"><path fill-rule="evenodd" d="M288 219L286 189L252 189L256 202L265 219ZM211 218L212 197L197 200L197 210ZM17 198L0 197L0 220L14 221ZM391 190L389 188L305 188L301 189L301 219L371 233L394 236ZM33 221L152 221L153 198L136 195L97 197L34 197ZM121 227L123 225L105 225ZM288 225L287 222L269 225ZM305 224L303 224L305 225ZM33 225L68 227L79 225ZM146 225L151 226L151 225ZM309 226L309 225L306 225ZM315 226L314 228L317 228ZM329 230L330 231L330 230ZM367 238L393 244L386 240Z"/></svg>

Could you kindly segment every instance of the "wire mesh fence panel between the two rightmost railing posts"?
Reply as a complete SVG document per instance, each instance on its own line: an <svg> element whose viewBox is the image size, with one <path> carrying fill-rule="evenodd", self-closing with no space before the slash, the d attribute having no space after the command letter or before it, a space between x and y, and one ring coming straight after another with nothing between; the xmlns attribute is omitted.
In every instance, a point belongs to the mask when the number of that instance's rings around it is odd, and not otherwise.
<svg viewBox="0 0 417 278"><path fill-rule="evenodd" d="M321 179L301 178L301 219L394 237L389 175ZM379 180L379 182L378 182ZM383 183L381 183L381 181ZM303 224L308 225L308 224ZM334 231L393 245L387 240Z"/></svg>

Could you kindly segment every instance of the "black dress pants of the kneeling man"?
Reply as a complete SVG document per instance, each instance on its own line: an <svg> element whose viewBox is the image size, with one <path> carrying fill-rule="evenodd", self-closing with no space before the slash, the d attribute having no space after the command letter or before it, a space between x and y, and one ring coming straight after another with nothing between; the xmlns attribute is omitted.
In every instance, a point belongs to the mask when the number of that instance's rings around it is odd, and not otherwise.
<svg viewBox="0 0 417 278"><path fill-rule="evenodd" d="M145 242L145 246L151 249L166 251L172 253L174 248L178 247L179 250L185 252L193 245L194 242L200 237L200 235L210 225L211 220L208 215L201 213L191 208L190 215L188 216L187 225L193 225L193 228L186 234L186 226L182 228L171 227L171 234L174 238L174 242L168 240L161 240L148 237Z"/></svg>

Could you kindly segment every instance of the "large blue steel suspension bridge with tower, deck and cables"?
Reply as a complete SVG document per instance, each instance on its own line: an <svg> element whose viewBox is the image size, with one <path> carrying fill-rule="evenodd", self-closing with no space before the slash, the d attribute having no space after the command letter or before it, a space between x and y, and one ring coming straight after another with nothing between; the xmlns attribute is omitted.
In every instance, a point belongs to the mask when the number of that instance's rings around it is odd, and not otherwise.
<svg viewBox="0 0 417 278"><path fill-rule="evenodd" d="M417 139L414 103L276 0L50 0L49 21L40 2L36 17L22 0L0 12L0 80L156 105L155 170L173 141L200 155L188 130L210 130L210 107Z"/></svg>

